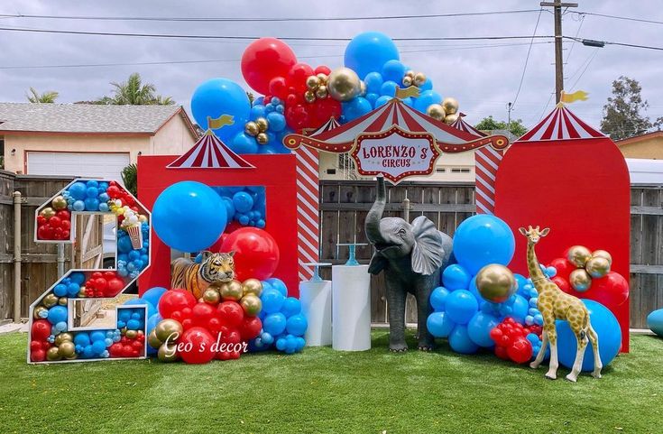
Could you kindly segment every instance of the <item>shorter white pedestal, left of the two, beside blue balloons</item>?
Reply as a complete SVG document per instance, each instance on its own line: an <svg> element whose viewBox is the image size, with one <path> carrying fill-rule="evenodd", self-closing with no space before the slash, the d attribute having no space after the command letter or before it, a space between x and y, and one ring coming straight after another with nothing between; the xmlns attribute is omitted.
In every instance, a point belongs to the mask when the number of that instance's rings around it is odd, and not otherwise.
<svg viewBox="0 0 663 434"><path fill-rule="evenodd" d="M299 301L308 319L306 346L331 345L331 281L299 282Z"/></svg>

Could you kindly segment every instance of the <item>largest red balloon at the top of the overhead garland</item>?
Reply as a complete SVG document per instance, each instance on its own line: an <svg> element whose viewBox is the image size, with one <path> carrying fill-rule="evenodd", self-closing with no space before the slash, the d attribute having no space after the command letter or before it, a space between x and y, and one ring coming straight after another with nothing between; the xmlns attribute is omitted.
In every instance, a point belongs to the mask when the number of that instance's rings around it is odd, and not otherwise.
<svg viewBox="0 0 663 434"><path fill-rule="evenodd" d="M253 90L267 95L274 77L286 77L297 63L290 46L276 38L261 38L251 42L242 54L242 75Z"/></svg>

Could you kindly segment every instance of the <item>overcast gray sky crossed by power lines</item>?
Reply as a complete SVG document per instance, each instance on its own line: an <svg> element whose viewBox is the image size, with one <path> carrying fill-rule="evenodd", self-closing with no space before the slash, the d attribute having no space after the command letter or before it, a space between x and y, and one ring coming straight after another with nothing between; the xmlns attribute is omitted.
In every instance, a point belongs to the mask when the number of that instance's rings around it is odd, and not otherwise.
<svg viewBox="0 0 663 434"><path fill-rule="evenodd" d="M578 0L582 12L614 14L663 21L660 1ZM358 7L362 5L363 7ZM628 5L628 7L626 7ZM0 14L168 16L168 17L329 17L396 14L452 14L465 12L539 9L537 1L418 2L333 0L270 2L219 0L114 0L82 2L59 0L4 0ZM487 14L468 17L418 18L351 22L290 23L145 23L96 20L0 18L0 27L63 29L93 32L150 32L247 36L353 37L368 30L391 37L531 35L538 12ZM582 25L581 25L582 24ZM566 14L564 34L609 42L663 46L663 24L615 20L594 15ZM553 15L540 15L539 35L553 34ZM544 42L546 40L535 40ZM68 35L0 31L0 101L25 101L29 87L57 90L59 102L100 97L110 91L110 81L122 81L140 72L159 93L172 96L189 110L189 97L207 78L225 77L243 84L239 69L245 41L133 38L120 36ZM342 66L346 42L291 42L304 61L332 69ZM513 45L518 44L518 45ZM506 105L519 88L529 40L472 42L398 42L401 60L433 79L443 97L456 97L467 120L474 123L486 115L506 119ZM492 45L492 46L491 46ZM603 49L565 41L565 88L583 89L590 99L571 108L592 125L598 125L602 107L610 95L612 80L626 75L640 81L649 100L652 119L663 115L663 51L608 45ZM406 52L410 51L410 52ZM311 58L315 56L315 58ZM55 65L136 63L180 60L222 60L207 63L125 65L83 68L51 68ZM552 43L531 47L520 96L513 118L535 125L553 106L548 104L555 88ZM47 66L14 69L8 67ZM246 87L248 89L248 87Z"/></svg>

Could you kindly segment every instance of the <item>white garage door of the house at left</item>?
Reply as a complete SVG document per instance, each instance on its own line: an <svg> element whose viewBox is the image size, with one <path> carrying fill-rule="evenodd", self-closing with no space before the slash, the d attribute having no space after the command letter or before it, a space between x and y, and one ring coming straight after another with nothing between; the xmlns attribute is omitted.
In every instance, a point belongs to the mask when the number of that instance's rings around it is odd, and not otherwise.
<svg viewBox="0 0 663 434"><path fill-rule="evenodd" d="M121 181L129 153L28 152L29 175L70 175Z"/></svg>

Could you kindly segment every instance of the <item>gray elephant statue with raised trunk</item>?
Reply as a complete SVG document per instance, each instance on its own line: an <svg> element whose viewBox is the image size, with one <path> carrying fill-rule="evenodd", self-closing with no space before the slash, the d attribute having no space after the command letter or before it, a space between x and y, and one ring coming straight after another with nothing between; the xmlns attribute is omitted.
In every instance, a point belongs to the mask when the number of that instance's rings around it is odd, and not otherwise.
<svg viewBox="0 0 663 434"><path fill-rule="evenodd" d="M389 349L406 351L405 300L410 292L417 300L419 349L433 348L426 320L431 313L430 292L440 282L440 269L447 266L453 242L437 230L428 217L408 223L400 217L384 217L386 191L382 176L377 178L377 197L366 216L366 236L375 247L368 272L384 272L389 314Z"/></svg>

